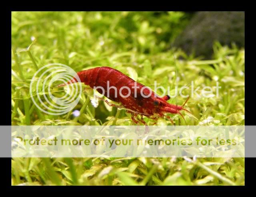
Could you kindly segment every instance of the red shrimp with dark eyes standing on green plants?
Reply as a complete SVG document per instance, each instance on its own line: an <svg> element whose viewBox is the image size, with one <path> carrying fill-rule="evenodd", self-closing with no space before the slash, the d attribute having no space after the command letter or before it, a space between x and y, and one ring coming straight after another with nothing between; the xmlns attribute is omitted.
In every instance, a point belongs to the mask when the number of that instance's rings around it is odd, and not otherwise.
<svg viewBox="0 0 256 197"><path fill-rule="evenodd" d="M184 105L188 101L181 106L176 104L170 104L166 102L170 99L170 96L166 95L164 97L159 97L150 90L148 87L145 87L141 83L138 83L131 79L130 77L124 75L120 71L110 68L110 67L96 67L93 69L88 69L85 71L80 71L77 73L80 81L86 85L89 85L91 88L94 87L102 87L102 89L96 89L100 94L104 94L108 99L113 100L115 102L121 103L120 106L126 108L128 112L132 114L132 120L137 124L138 122L142 122L146 125L146 122L143 120L143 116L146 116L151 119L157 120L159 117L164 117L164 113L169 112L172 114L182 114L180 110L186 110ZM109 81L109 82L108 82ZM74 77L72 80L68 81L68 84L78 82ZM107 86L107 82L109 86ZM62 87L65 84L61 84L58 87ZM137 86L138 88L132 88ZM109 95L107 93L108 87L116 87L109 88ZM130 94L127 88L130 89ZM122 88L122 89L121 89ZM122 90L120 95L120 89ZM147 98L145 98L145 96ZM125 98L126 97L126 98ZM107 103L108 101L105 100ZM109 104L109 103L108 103ZM109 104L110 106L117 106L114 104ZM117 107L120 107L117 106ZM186 110L188 111L188 110ZM189 112L189 111L188 111ZM140 114L140 118L137 115ZM137 120L136 120L137 117ZM168 118L168 116L167 116ZM170 117L169 117L170 118ZM184 118L182 116L182 118ZM172 121L172 119L170 118ZM185 119L184 119L185 120ZM173 123L173 121L172 121Z"/></svg>

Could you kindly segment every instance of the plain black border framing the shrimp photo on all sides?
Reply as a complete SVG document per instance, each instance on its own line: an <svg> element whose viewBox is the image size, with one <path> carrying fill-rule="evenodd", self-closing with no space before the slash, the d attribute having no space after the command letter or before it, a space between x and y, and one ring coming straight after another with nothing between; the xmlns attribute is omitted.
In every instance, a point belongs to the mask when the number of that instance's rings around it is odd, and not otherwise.
<svg viewBox="0 0 256 197"><path fill-rule="evenodd" d="M158 2L159 4L160 2ZM210 4L217 4L217 5L222 5L218 4L218 2L209 2ZM86 2L87 4L87 2ZM119 4L119 3L116 3ZM139 8L140 7L136 7L135 4L133 2L127 2L126 4L128 4L127 6L125 6L124 8L119 8L117 10L132 10L135 11L134 8ZM232 2L232 4L236 4L236 2ZM31 5L31 4L30 4ZM52 3L51 4L44 4L44 5L40 5L40 7L36 8L37 11L44 11L44 10L49 10L49 8L52 8ZM68 5L70 6L70 5ZM68 7L65 10L65 8L62 8L62 10L65 11L70 11L70 7ZM80 3L78 4L78 6L80 6ZM88 6L80 6L80 8L76 8L76 10L74 11L79 11L79 9L83 9L84 10L106 10L106 11L113 11L116 10L115 6L111 6L111 7L104 7L103 8L103 4L101 5L102 7L100 8L99 6L95 6L95 7L88 7ZM147 5L148 6L148 5ZM175 10L176 7L175 6L166 6L166 3L162 3L161 6L152 6L151 8L147 7L147 6L142 6L142 9L146 8L147 11L155 11L155 10ZM230 10L230 5L227 6L228 8L226 8L226 10ZM239 9L242 9L243 6L240 6ZM192 7L190 7L192 8ZM196 6L196 9L200 9L202 10L201 6ZM212 9L212 6L209 6L210 9ZM208 9L209 9L208 8ZM26 10L28 10L28 7L25 8ZM54 10L52 11L57 11L58 9L60 9L59 5L55 6ZM216 9L216 8L215 8ZM222 7L223 9L223 7ZM225 8L224 8L225 9ZM239 9L234 9L233 10L239 10ZM5 116L2 117L0 119L0 125L11 125L11 105L10 105L10 100L11 100L11 67L9 67L10 65L10 61L11 61L11 11L21 11L22 8L11 8L11 7L7 7L3 12L1 12L1 14L4 14L4 16L2 17L2 23L4 23L5 25L5 29L2 29L3 36L2 36L2 41L5 41L4 45L2 45L2 49L4 51L5 54L5 58L6 58L6 64L2 65L2 72L1 72L1 79L2 79L2 88L4 88L4 91L2 91L2 93L4 94L4 96L0 97L0 103L2 103L2 108L4 108L5 110ZM31 8L29 8L29 10L33 10ZM51 9L50 9L51 10ZM116 10L116 11L117 11ZM184 9L180 9L180 10L184 10ZM186 9L185 9L186 10ZM216 9L216 10L220 10L220 8ZM24 10L25 11L25 10ZM82 10L81 10L82 11ZM139 10L136 10L139 11ZM198 11L198 10L197 10ZM254 114L255 114L255 104L254 104L254 69L255 66L252 62L252 54L253 54L253 41L254 39L252 38L252 34L254 33L254 31L252 30L252 27L254 26L254 18L253 16L255 16L255 14L252 11L249 10L240 10L240 11L245 11L245 48L246 48L246 53L245 53L245 106L247 107L245 109L245 124L246 125L256 125L256 121L254 120ZM5 39L4 39L5 38ZM251 61L251 63L250 63ZM7 189L8 191L13 190L13 191L17 191L19 193L27 193L27 195L36 195L36 193L38 193L38 191L46 191L46 192L50 192L50 191L54 191L55 189L57 189L58 191L64 191L67 192L70 189L76 189L76 192L83 192L84 195L89 194L88 192L92 192L92 190L97 189L97 193L92 193L92 195L98 195L101 193L101 191L113 191L113 193L106 193L106 195L124 195L124 193L120 193L126 189L129 189L130 192L136 192L136 191L147 191L149 192L151 195L153 195L153 192L156 192L156 194L161 194L163 192L166 192L166 195L173 195L174 193L178 193L179 195L184 195L185 192L187 191L189 193L189 195L208 195L209 191L215 191L214 193L216 193L216 195L222 195L223 192L228 191L228 192L237 192L237 191L248 191L254 188L254 180L256 178L256 173L255 173L255 169L254 169L254 165L256 164L256 158L246 158L245 159L245 186L190 186L188 187L186 190L184 190L184 188L182 188L183 186L144 186L144 187L135 187L135 186L121 186L121 187L116 187L116 186L84 186L84 187L80 187L80 186L72 186L72 187L55 187L55 186L44 186L44 187L40 187L40 186L34 186L34 187L23 187L23 186L11 186L11 158L0 158L0 166L2 167L2 169L5 169L3 172L4 174L1 174L1 178L0 178L0 184L1 187L4 189ZM4 178L2 177L4 176ZM182 190L179 190L182 189ZM197 190L200 190L200 193L194 193ZM26 191L27 190L27 191ZM48 193L49 194L53 194L53 193ZM213 194L213 193L211 193ZM144 193L145 195L145 193Z"/></svg>

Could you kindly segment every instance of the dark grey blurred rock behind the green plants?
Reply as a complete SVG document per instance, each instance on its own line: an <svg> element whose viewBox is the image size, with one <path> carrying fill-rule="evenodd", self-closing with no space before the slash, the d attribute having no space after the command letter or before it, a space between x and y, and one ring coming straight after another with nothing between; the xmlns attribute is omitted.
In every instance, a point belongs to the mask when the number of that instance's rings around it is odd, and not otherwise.
<svg viewBox="0 0 256 197"><path fill-rule="evenodd" d="M214 41L244 47L244 12L197 12L173 46L211 58Z"/></svg>

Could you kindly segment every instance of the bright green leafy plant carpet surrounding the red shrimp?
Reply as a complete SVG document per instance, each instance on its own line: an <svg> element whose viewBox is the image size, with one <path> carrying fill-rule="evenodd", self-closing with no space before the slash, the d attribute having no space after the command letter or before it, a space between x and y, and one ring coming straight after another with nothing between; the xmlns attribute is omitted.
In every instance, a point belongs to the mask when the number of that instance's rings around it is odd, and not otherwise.
<svg viewBox="0 0 256 197"><path fill-rule="evenodd" d="M74 110L60 116L41 112L29 85L38 68L49 63L76 72L113 67L152 89L154 81L171 89L191 87L192 81L195 87L214 87L218 81L219 97L191 97L186 108L192 115L183 112L185 122L173 114L175 124L244 125L244 49L216 42L210 60L169 49L188 21L183 12L12 12L12 125L134 125L125 110L116 116L116 108L103 101L97 108L86 102L84 85L74 108L81 112L78 118ZM52 94L65 91L53 87ZM157 124L171 122L159 118ZM13 158L12 184L244 185L244 159Z"/></svg>

